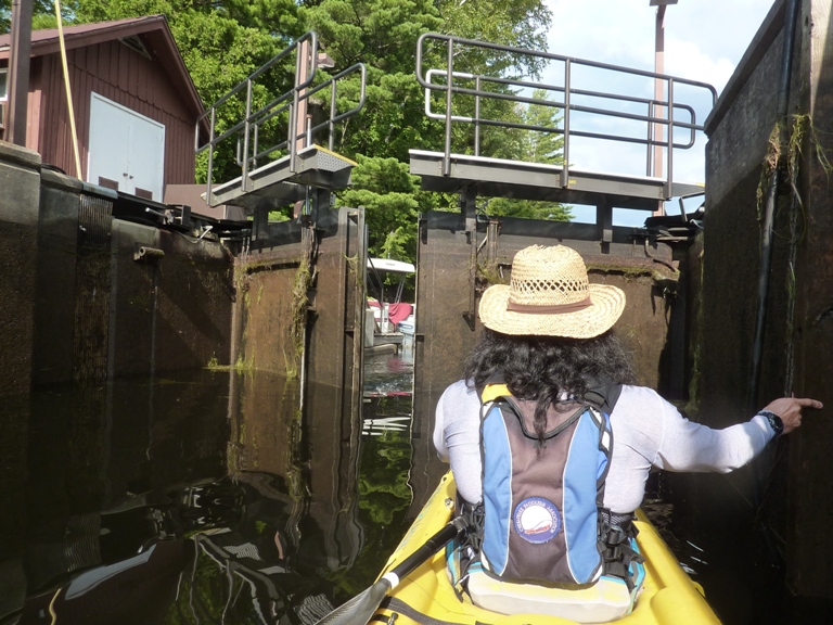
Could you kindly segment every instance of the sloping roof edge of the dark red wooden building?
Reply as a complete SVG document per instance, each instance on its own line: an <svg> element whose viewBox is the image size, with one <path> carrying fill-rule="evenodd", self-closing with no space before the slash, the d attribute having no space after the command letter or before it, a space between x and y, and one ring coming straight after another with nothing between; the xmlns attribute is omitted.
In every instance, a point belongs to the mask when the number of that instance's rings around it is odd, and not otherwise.
<svg viewBox="0 0 833 625"><path fill-rule="evenodd" d="M63 30L64 44L67 50L141 35L142 43L151 54L159 60L172 84L180 90L182 99L193 109L194 116L205 112L203 101L196 92L194 81L188 73L182 54L177 48L168 21L164 15L131 17L115 22L99 22L98 24L79 24L65 26ZM11 35L0 35L0 61L9 60L10 47ZM57 28L31 31L31 56L56 54L60 51Z"/></svg>

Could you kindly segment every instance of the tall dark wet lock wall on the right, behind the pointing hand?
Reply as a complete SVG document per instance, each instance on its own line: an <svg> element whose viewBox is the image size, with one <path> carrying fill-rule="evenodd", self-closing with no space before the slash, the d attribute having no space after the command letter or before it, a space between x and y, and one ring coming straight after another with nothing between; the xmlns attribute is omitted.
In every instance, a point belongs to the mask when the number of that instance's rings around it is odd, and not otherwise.
<svg viewBox="0 0 833 625"><path fill-rule="evenodd" d="M800 3L793 52L789 118L780 146L782 181L757 406L783 394L833 406L830 352L833 265L830 167L820 155L833 132L833 30L830 0ZM772 156L785 2L776 2L707 122L703 316L697 369L700 418L726 425L748 418L754 318L760 260L757 200L764 163ZM798 174L795 189L790 169ZM791 258L794 256L794 263ZM794 318L793 318L794 315ZM800 597L833 598L833 506L828 469L833 421L810 411L803 428L771 445L749 470L716 483L722 499L762 519L776 551L786 558L787 584ZM789 460L787 460L789 459ZM725 482L725 481L723 481ZM719 497L716 499L716 494ZM739 503L745 500L747 503Z"/></svg>

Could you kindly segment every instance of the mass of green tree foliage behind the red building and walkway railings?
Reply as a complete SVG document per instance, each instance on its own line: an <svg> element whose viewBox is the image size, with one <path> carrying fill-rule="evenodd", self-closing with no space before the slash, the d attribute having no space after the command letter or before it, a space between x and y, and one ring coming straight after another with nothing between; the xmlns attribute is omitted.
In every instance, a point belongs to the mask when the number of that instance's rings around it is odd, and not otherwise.
<svg viewBox="0 0 833 625"><path fill-rule="evenodd" d="M0 0L0 30L8 29L12 0ZM66 0L64 15L75 23L103 22L142 15L165 15L200 95L217 101L255 69L307 30L335 62L331 74L361 62L368 68L363 111L336 129L335 150L358 162L354 186L338 193L338 203L364 206L370 251L379 256L413 260L416 216L432 209L457 209L457 197L420 191L408 173L410 149L440 151L445 127L423 111L424 93L414 73L419 37L435 31L501 46L544 50L551 14L542 0ZM35 0L36 25L54 26L51 0ZM51 18L51 22L49 20ZM39 20L39 22L38 22ZM426 63L441 65L445 51L426 50ZM543 68L534 56L477 49L461 50L456 68L491 76L536 77ZM433 65L432 65L433 66ZM286 91L294 65L279 67L255 89L255 105ZM358 99L358 78L339 87L339 99ZM492 86L510 92L505 86ZM456 113L471 114L473 99L458 98ZM518 106L490 100L482 114L510 123L558 127L558 110ZM315 112L313 112L315 113ZM218 132L242 119L244 104L231 100L220 109ZM275 123L277 124L277 123ZM277 128L277 127L275 127ZM273 128L274 132L278 130ZM535 135L535 136L533 136ZM512 128L485 128L482 153L499 158L558 163L561 139ZM319 143L322 141L319 139ZM471 127L453 129L453 149L471 152ZM201 156L204 156L201 155ZM197 162L205 178L205 158ZM240 173L234 145L215 155L215 181ZM568 218L555 204L494 199L494 215Z"/></svg>

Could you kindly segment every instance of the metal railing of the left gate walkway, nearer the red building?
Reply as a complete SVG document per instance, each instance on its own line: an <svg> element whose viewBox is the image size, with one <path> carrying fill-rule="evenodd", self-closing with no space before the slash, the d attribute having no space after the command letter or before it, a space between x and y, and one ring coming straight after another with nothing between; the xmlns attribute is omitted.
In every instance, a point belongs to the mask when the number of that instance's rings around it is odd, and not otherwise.
<svg viewBox="0 0 833 625"><path fill-rule="evenodd" d="M274 69L292 54L295 54L295 80L293 88L253 111L253 90L258 79L264 79L269 71ZM194 151L196 154L208 151L207 193L209 197L214 178L215 152L220 143L229 139L236 139L236 162L241 167L241 188L243 191L251 190L251 174L257 169L258 161L273 157L275 153L282 153L281 155L289 154L290 171L297 171L298 150L310 145L316 133L323 129L328 131L328 148L331 151L333 150L335 125L355 115L364 106L367 68L363 63L357 63L313 87L319 66L318 36L310 31L295 40L268 63L251 74L200 116L196 120ZM358 102L351 109L339 113L337 111L338 85L354 74L358 74L360 77ZM306 105L315 98L323 95L323 92L328 89L330 90L329 115L323 122L309 126L307 119L304 119ZM223 105L230 104L235 98L240 98L242 93L245 93L245 114L243 119L218 135L218 110ZM207 141L201 143L200 128L205 124L206 118L208 118L209 136ZM286 139L264 148L260 145L261 129L265 125L273 122L286 123Z"/></svg>

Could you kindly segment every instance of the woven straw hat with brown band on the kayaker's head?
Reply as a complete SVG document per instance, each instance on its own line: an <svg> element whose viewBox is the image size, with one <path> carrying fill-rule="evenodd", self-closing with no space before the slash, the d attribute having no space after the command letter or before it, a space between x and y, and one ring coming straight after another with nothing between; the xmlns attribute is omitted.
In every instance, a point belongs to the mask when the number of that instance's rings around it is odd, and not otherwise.
<svg viewBox="0 0 833 625"><path fill-rule="evenodd" d="M509 285L489 286L480 299L480 321L503 334L592 339L616 323L625 293L590 284L587 267L564 245L533 245L515 254Z"/></svg>

